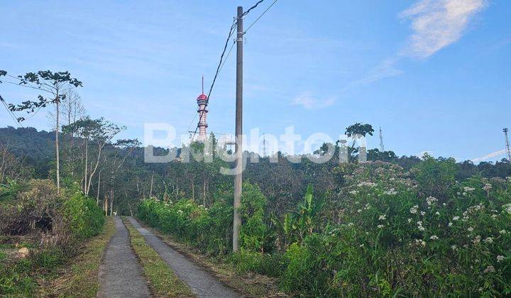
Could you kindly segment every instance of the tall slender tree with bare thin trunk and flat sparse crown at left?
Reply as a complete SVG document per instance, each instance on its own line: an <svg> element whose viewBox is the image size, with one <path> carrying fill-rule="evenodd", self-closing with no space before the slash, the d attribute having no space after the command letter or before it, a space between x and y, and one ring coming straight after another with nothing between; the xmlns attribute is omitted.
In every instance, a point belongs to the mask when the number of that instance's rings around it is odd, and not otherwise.
<svg viewBox="0 0 511 298"><path fill-rule="evenodd" d="M82 82L71 77L69 72L51 72L50 70L40 70L38 72L27 72L26 75L18 75L17 77L8 75L5 70L0 70L0 76L11 77L17 82L9 82L18 84L22 87L40 90L43 94L37 96L35 101L23 101L21 104L9 104L11 111L26 111L28 114L37 113L40 109L50 104L55 104L55 155L56 155L56 176L57 176L57 194L60 194L60 151L59 151L59 105L65 99L65 92L72 87L82 86ZM25 118L19 117L18 122L24 121Z"/></svg>

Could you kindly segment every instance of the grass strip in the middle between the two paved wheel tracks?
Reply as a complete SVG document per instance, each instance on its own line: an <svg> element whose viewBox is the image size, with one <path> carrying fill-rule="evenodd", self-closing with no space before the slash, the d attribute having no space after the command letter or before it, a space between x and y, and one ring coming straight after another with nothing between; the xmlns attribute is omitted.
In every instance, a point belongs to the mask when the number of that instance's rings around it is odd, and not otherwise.
<svg viewBox="0 0 511 298"><path fill-rule="evenodd" d="M131 247L142 265L143 274L155 297L195 297L192 289L177 277L131 223L123 219L130 233Z"/></svg>

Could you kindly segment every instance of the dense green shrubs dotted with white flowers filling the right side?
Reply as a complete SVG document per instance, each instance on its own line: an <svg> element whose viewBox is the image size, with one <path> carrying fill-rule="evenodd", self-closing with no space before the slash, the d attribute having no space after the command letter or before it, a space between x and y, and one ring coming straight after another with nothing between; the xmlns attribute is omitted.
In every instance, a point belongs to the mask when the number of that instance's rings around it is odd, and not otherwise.
<svg viewBox="0 0 511 298"><path fill-rule="evenodd" d="M346 187L331 206L337 224L326 226L313 244L309 239L293 248L307 255L304 267L313 272L310 282L294 281L295 290L331 296L511 294L510 182L474 177L434 197L410 177L384 164L363 165L344 177Z"/></svg>

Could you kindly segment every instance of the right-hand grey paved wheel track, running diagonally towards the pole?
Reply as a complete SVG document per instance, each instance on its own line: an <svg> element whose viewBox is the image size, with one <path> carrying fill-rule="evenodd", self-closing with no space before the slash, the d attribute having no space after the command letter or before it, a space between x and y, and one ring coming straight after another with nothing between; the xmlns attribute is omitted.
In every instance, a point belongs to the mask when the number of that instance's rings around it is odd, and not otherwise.
<svg viewBox="0 0 511 298"><path fill-rule="evenodd" d="M170 248L169 245L146 228L143 228L136 219L128 217L128 220L143 235L145 241L172 268L177 277L180 277L182 281L189 285L197 297L240 297L232 289L224 286L215 277L185 258L184 255Z"/></svg>

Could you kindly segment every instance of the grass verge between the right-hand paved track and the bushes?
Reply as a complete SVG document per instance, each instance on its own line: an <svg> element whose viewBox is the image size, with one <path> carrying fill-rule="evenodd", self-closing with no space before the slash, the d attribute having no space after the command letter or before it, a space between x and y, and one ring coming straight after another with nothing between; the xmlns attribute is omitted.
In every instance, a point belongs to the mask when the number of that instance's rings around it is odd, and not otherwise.
<svg viewBox="0 0 511 298"><path fill-rule="evenodd" d="M160 233L158 229L148 226L140 219L138 219L138 222L174 250L185 255L224 284L236 289L236 292L243 296L288 297L288 295L279 291L275 278L253 272L238 272L233 264L226 261L226 258L204 255L197 248L175 241L172 236Z"/></svg>

